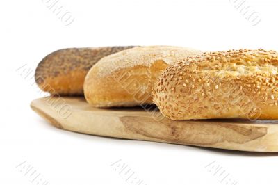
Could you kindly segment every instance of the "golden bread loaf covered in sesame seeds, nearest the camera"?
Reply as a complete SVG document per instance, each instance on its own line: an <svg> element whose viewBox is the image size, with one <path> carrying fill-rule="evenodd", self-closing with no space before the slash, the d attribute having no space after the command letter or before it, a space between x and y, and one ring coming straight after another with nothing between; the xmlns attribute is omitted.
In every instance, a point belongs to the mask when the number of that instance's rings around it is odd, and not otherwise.
<svg viewBox="0 0 278 185"><path fill-rule="evenodd" d="M172 120L278 119L277 51L232 50L188 57L156 81L154 103Z"/></svg>

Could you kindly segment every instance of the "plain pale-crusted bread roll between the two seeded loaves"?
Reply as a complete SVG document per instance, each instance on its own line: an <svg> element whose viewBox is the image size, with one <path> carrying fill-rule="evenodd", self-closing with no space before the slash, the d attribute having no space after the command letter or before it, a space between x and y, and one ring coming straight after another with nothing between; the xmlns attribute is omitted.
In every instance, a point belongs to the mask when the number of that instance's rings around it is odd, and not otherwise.
<svg viewBox="0 0 278 185"><path fill-rule="evenodd" d="M134 47L102 58L85 77L84 94L95 107L152 103L154 83L165 68L202 51L184 47Z"/></svg>

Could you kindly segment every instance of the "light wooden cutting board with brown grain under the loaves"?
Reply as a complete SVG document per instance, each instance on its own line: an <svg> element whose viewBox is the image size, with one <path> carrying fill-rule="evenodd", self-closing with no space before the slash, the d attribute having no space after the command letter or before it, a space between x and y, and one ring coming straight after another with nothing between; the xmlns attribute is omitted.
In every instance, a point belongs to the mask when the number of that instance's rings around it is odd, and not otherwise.
<svg viewBox="0 0 278 185"><path fill-rule="evenodd" d="M154 108L92 108L82 97L44 97L33 100L31 108L55 127L84 134L278 152L278 121L274 120L174 121Z"/></svg>

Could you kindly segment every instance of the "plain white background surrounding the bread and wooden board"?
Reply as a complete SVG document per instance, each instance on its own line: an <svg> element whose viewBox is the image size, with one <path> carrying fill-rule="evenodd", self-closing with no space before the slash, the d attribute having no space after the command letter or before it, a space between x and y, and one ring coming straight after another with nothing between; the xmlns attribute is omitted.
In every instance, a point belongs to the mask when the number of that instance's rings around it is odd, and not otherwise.
<svg viewBox="0 0 278 185"><path fill-rule="evenodd" d="M48 184L132 184L111 166L120 159L142 184L225 184L220 182L223 175L213 175L215 170L206 168L214 161L238 184L277 184L278 154L120 140L56 129L29 108L31 100L42 95L32 75L24 79L17 69L26 65L35 70L44 56L65 47L278 50L278 1L245 2L261 18L256 26L240 8L234 8L236 0L60 0L74 18L69 26L47 8L47 1L11 0L0 5L0 184L35 184L20 172L24 161Z"/></svg>

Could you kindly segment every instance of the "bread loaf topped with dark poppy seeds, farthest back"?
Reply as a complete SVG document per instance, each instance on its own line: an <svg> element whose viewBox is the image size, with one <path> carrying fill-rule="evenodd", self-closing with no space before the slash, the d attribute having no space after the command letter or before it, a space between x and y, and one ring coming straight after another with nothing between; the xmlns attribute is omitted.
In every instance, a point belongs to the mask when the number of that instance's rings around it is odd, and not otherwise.
<svg viewBox="0 0 278 185"><path fill-rule="evenodd" d="M42 90L51 94L83 95L85 75L92 65L104 56L132 47L67 48L54 51L38 64L35 81Z"/></svg>

